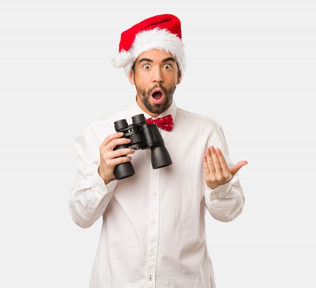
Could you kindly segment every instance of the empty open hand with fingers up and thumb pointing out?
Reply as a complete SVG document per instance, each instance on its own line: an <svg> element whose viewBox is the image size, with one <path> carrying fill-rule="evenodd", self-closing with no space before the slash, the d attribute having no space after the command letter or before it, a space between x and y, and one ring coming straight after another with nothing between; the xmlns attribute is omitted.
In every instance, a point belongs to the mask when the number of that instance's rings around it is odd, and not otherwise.
<svg viewBox="0 0 316 288"><path fill-rule="evenodd" d="M246 165L247 161L240 161L235 166L229 168L220 148L210 146L206 148L203 155L204 180L209 188L215 189L224 185Z"/></svg>

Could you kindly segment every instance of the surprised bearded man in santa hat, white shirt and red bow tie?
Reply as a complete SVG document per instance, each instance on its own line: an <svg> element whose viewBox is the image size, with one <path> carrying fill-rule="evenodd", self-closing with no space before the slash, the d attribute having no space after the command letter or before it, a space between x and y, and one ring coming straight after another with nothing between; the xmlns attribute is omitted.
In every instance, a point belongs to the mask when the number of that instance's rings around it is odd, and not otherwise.
<svg viewBox="0 0 316 288"><path fill-rule="evenodd" d="M90 287L214 288L204 216L208 211L227 222L241 213L237 171L247 162L232 163L217 122L173 100L185 70L177 17L157 15L123 32L114 63L125 69L136 97L127 110L93 123L75 141L72 218L84 228L103 218ZM150 149L133 149L123 132L115 132L114 122L131 124L138 114L159 118L171 165L153 169ZM116 180L115 167L127 162L135 175Z"/></svg>

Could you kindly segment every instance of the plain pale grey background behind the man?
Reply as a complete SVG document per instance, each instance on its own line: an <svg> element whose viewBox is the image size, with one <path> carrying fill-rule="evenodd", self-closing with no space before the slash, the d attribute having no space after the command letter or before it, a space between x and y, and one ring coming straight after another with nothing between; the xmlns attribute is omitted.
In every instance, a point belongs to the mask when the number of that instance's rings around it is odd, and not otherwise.
<svg viewBox="0 0 316 288"><path fill-rule="evenodd" d="M135 96L111 63L121 32L171 13L187 54L178 106L217 120L249 162L243 213L206 217L218 288L315 287L313 1L108 3L0 4L0 286L88 287L101 222L70 218L73 140Z"/></svg>

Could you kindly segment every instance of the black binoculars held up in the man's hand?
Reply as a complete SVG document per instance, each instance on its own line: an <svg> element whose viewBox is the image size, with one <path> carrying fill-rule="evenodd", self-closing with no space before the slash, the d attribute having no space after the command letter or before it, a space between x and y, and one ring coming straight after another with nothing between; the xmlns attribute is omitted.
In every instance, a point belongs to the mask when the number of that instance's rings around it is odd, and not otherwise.
<svg viewBox="0 0 316 288"><path fill-rule="evenodd" d="M118 145L114 150L121 148L150 149L152 168L162 168L172 164L171 157L165 146L164 139L156 124L146 124L144 114L132 117L133 124L128 125L125 119L114 122L116 132L124 132L122 138L129 138L131 142ZM135 174L132 163L125 162L116 165L114 175L116 180L124 179Z"/></svg>

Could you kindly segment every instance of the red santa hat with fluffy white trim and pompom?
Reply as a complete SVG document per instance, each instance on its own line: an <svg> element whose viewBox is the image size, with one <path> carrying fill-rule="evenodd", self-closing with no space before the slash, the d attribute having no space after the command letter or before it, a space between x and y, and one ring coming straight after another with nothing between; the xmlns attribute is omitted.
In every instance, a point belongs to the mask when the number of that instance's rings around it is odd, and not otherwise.
<svg viewBox="0 0 316 288"><path fill-rule="evenodd" d="M180 20L171 14L145 19L121 34L119 53L113 59L114 67L125 70L128 76L137 57L145 51L159 49L171 53L181 73L185 70L185 52Z"/></svg>

